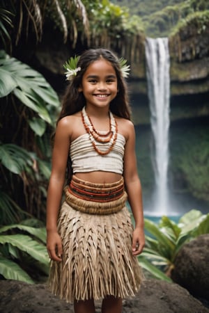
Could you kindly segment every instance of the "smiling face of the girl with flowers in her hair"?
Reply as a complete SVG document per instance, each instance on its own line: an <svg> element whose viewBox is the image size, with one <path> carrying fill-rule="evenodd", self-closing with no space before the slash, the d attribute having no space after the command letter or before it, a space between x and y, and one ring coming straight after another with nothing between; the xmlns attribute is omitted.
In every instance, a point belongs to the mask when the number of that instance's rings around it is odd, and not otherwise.
<svg viewBox="0 0 209 313"><path fill-rule="evenodd" d="M117 89L116 71L109 61L102 58L87 67L79 92L83 92L86 106L103 108L116 97Z"/></svg>

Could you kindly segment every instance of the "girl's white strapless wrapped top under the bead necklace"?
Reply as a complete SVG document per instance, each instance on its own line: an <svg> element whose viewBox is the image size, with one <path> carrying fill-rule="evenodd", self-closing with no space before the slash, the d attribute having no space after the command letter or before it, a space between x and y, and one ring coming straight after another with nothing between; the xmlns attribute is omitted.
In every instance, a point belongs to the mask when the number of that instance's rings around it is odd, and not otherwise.
<svg viewBox="0 0 209 313"><path fill-rule="evenodd" d="M96 143L101 151L106 151L108 143ZM113 149L107 155L100 155L93 149L88 134L77 137L70 144L70 159L72 161L72 172L93 172L102 170L104 172L116 172L123 174L123 155L125 137L118 134Z"/></svg>

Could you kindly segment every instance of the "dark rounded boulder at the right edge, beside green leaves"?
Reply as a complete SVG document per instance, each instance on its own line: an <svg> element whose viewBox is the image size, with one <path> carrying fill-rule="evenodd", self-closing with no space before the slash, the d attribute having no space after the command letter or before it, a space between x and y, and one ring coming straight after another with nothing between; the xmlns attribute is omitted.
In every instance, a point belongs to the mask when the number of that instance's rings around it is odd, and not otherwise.
<svg viewBox="0 0 209 313"><path fill-rule="evenodd" d="M172 279L196 297L209 299L209 234L186 243L178 253Z"/></svg>

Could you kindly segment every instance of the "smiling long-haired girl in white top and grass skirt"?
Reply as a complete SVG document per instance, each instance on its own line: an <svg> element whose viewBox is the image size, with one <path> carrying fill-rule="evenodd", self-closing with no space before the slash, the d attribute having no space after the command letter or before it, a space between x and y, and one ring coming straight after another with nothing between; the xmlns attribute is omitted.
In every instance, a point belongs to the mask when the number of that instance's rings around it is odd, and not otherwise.
<svg viewBox="0 0 209 313"><path fill-rule="evenodd" d="M47 196L49 287L76 313L119 313L141 284L144 248L134 126L120 61L89 49L68 64L71 80L57 122ZM124 62L123 62L124 65ZM68 185L61 209L65 170ZM128 200L135 220L134 230Z"/></svg>

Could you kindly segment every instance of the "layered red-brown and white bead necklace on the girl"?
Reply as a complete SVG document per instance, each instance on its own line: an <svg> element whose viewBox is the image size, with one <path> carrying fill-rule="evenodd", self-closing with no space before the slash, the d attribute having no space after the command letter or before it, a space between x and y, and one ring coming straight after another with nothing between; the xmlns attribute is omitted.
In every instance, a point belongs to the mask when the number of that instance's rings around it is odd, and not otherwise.
<svg viewBox="0 0 209 313"><path fill-rule="evenodd" d="M114 115L109 111L109 131L97 131L93 126L93 122L91 118L86 113L85 106L82 109L82 122L86 129L86 133L89 134L90 141L93 145L93 148L100 155L107 155L111 152L114 144L116 143L116 139L118 136L118 125L116 123L116 119ZM96 143L109 143L107 150L101 151L98 149Z"/></svg>

